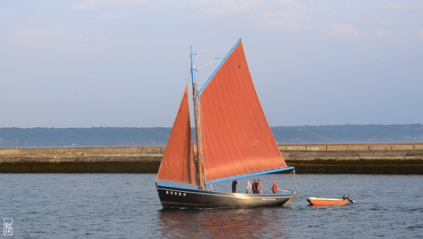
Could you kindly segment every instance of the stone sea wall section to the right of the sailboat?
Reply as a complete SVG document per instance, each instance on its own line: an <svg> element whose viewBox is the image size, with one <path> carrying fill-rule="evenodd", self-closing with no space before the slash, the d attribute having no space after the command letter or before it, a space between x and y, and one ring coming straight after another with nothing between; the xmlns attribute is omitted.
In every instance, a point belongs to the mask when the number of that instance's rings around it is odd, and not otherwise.
<svg viewBox="0 0 423 239"><path fill-rule="evenodd" d="M423 174L423 143L279 145L302 174Z"/></svg>

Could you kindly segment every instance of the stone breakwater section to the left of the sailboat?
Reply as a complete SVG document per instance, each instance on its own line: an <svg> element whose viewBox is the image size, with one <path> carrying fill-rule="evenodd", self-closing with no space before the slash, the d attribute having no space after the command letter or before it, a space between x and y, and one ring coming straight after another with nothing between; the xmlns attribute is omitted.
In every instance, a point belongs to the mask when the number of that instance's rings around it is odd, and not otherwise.
<svg viewBox="0 0 423 239"><path fill-rule="evenodd" d="M157 173L164 146L0 149L0 173Z"/></svg>

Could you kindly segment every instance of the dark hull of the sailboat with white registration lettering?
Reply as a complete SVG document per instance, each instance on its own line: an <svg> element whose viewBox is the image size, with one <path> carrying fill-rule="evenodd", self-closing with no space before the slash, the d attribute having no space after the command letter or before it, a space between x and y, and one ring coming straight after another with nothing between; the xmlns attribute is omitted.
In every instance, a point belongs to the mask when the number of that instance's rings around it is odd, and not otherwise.
<svg viewBox="0 0 423 239"><path fill-rule="evenodd" d="M221 193L192 188L157 185L163 207L278 207L288 205L298 194Z"/></svg>

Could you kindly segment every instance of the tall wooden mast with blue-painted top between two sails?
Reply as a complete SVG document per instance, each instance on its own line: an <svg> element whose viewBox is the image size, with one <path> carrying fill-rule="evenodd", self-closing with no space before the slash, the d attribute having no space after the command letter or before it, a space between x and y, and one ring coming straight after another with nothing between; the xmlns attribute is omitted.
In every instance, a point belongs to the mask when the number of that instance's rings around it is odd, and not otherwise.
<svg viewBox="0 0 423 239"><path fill-rule="evenodd" d="M191 57L191 79L192 79L192 101L194 101L194 115L195 115L195 135L197 138L197 169L200 177L200 189L204 188L204 164L202 160L202 146L201 146L201 136L200 136L200 120L198 113L200 112L198 108L198 91L197 91L197 82L195 82L195 66L194 58L192 57L195 53L192 53L192 46L190 46L190 57Z"/></svg>

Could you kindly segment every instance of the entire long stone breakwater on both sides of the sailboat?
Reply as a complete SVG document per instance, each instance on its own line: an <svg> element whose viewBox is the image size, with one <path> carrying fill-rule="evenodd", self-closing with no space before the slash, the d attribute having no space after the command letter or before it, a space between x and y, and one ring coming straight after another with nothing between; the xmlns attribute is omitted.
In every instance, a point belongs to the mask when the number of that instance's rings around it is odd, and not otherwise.
<svg viewBox="0 0 423 239"><path fill-rule="evenodd" d="M298 174L423 174L423 143L278 145ZM164 146L0 149L0 173L157 173Z"/></svg>

